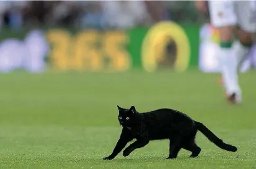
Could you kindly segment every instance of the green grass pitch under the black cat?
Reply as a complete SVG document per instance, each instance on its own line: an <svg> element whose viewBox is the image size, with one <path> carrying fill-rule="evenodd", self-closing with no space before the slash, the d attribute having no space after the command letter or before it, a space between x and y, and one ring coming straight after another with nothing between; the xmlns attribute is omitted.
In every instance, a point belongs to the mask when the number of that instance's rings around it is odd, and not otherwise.
<svg viewBox="0 0 256 169"><path fill-rule="evenodd" d="M45 73L0 75L0 168L256 168L256 72L242 74L243 104L227 105L219 75L186 73ZM202 151L175 160L167 140L128 157L109 155L120 135L117 104L139 112L170 107L203 122L226 152L203 134Z"/></svg>

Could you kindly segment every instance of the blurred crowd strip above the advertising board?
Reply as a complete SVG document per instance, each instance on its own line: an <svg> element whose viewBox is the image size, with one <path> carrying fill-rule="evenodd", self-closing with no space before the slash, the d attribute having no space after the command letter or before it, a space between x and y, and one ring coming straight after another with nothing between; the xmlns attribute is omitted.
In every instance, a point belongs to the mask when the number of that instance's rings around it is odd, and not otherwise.
<svg viewBox="0 0 256 169"><path fill-rule="evenodd" d="M161 20L195 22L191 1L0 1L0 28L131 28Z"/></svg>

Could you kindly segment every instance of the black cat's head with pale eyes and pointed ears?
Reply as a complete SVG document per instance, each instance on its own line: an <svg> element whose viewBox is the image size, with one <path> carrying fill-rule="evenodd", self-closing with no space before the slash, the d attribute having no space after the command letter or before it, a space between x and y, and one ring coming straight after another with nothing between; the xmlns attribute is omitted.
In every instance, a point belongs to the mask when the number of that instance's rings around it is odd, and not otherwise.
<svg viewBox="0 0 256 169"><path fill-rule="evenodd" d="M131 106L130 109L124 109L117 105L119 114L118 114L118 121L121 126L130 127L133 125L133 122L135 120L136 109L134 106Z"/></svg>

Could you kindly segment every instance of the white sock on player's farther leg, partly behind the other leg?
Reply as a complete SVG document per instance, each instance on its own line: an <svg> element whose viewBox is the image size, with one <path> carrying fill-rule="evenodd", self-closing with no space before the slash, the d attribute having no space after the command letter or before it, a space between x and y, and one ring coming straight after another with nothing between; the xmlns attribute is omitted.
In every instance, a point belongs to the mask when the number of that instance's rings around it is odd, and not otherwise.
<svg viewBox="0 0 256 169"><path fill-rule="evenodd" d="M233 44L233 49L237 58L237 72L240 72L241 65L248 56L250 52L250 47L246 47L240 43L240 41L236 41Z"/></svg>

